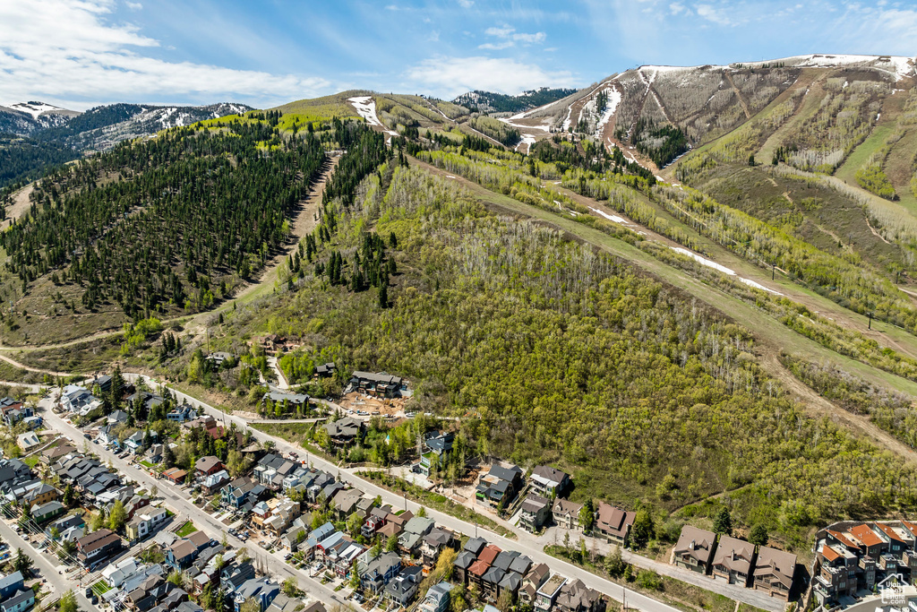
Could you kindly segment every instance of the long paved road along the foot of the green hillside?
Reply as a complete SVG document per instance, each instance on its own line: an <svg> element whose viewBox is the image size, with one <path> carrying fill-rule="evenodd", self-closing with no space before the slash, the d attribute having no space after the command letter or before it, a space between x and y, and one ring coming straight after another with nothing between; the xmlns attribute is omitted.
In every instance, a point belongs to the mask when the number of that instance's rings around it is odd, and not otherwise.
<svg viewBox="0 0 917 612"><path fill-rule="evenodd" d="M141 376L139 374L126 373L125 378L131 381L143 379L147 384L149 384L151 387L154 387L154 388L160 385L160 383L156 381L155 379L151 379L148 376ZM187 401L189 404L197 408L199 411L204 411L205 413L210 414L221 420L225 419L227 424L229 422L235 422L239 428L247 428L249 425L248 421L246 421L246 419L244 418L235 417L233 415L226 415L224 412L217 410L214 406L209 406L207 404L204 404L203 402L197 400L196 398L192 397L191 395L183 394L181 391L178 391L176 389L171 389L171 391L172 393L175 394L175 396L178 399ZM291 444L290 442L286 440L282 440L281 438L275 438L273 436L269 436L268 434L258 431L256 429L250 429L250 431L254 435L256 440L260 440L261 442L270 440L274 442L274 444L276 445L276 448L279 451L297 452L299 454L302 454L304 452L304 449L302 447ZM339 480L352 484L353 486L362 490L364 493L367 493L371 496L379 495L382 498L383 503L392 504L392 507L396 507L396 508L397 507L407 507L408 509L411 509L414 511L420 508L419 504L415 504L412 501L405 500L403 497L399 497L398 495L393 494L388 489L383 489L381 486L372 484L369 481L359 478L359 476L353 473L352 470L341 468L337 464L332 463L332 462L327 462L325 459L321 457L316 457L312 453L307 453L307 456L309 458L309 462L311 462L311 464L314 465L316 468L320 470L324 470L327 473L330 473L332 475L337 475ZM487 540L496 544L503 550L520 551L528 555L534 562L547 563L548 566L553 571L557 571L569 577L580 578L580 580L584 584L589 586L590 588L600 591L606 595L609 595L616 601L624 601L624 587L622 587L620 584L615 584L612 581L606 580L605 578L602 578L601 576L597 576L593 573L585 572L581 568L571 563L563 562L559 559L556 559L555 557L548 555L543 550L543 547L536 542L536 540L525 537L525 534L523 534L524 537L520 538L518 541L508 540L506 538L503 538L503 536L493 533L492 531L488 531L487 529L483 529L483 528L476 529L476 527L471 523L467 523L463 520L460 520L456 517L452 517L451 515L444 514L442 512L437 512L436 510L427 509L427 516L435 519L437 524L443 525L447 527L448 529L452 529L460 533L474 535L477 532L478 535L480 535L483 538L486 538ZM211 518L211 520L213 519ZM653 599L646 595L635 593L634 591L628 590L626 592L626 598L627 598L627 605L629 607L635 607L641 610L646 610L646 612L677 612L677 609L672 606L668 606L667 604L659 602L656 599Z"/></svg>

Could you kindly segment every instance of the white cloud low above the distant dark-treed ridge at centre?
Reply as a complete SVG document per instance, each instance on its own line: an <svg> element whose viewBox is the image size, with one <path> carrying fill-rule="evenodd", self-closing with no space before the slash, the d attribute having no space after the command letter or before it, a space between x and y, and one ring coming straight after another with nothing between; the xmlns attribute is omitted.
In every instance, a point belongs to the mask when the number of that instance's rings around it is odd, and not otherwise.
<svg viewBox="0 0 917 612"><path fill-rule="evenodd" d="M418 90L449 98L472 89L518 95L535 87L579 84L568 71L546 71L509 58L433 58L409 68L404 76Z"/></svg>

